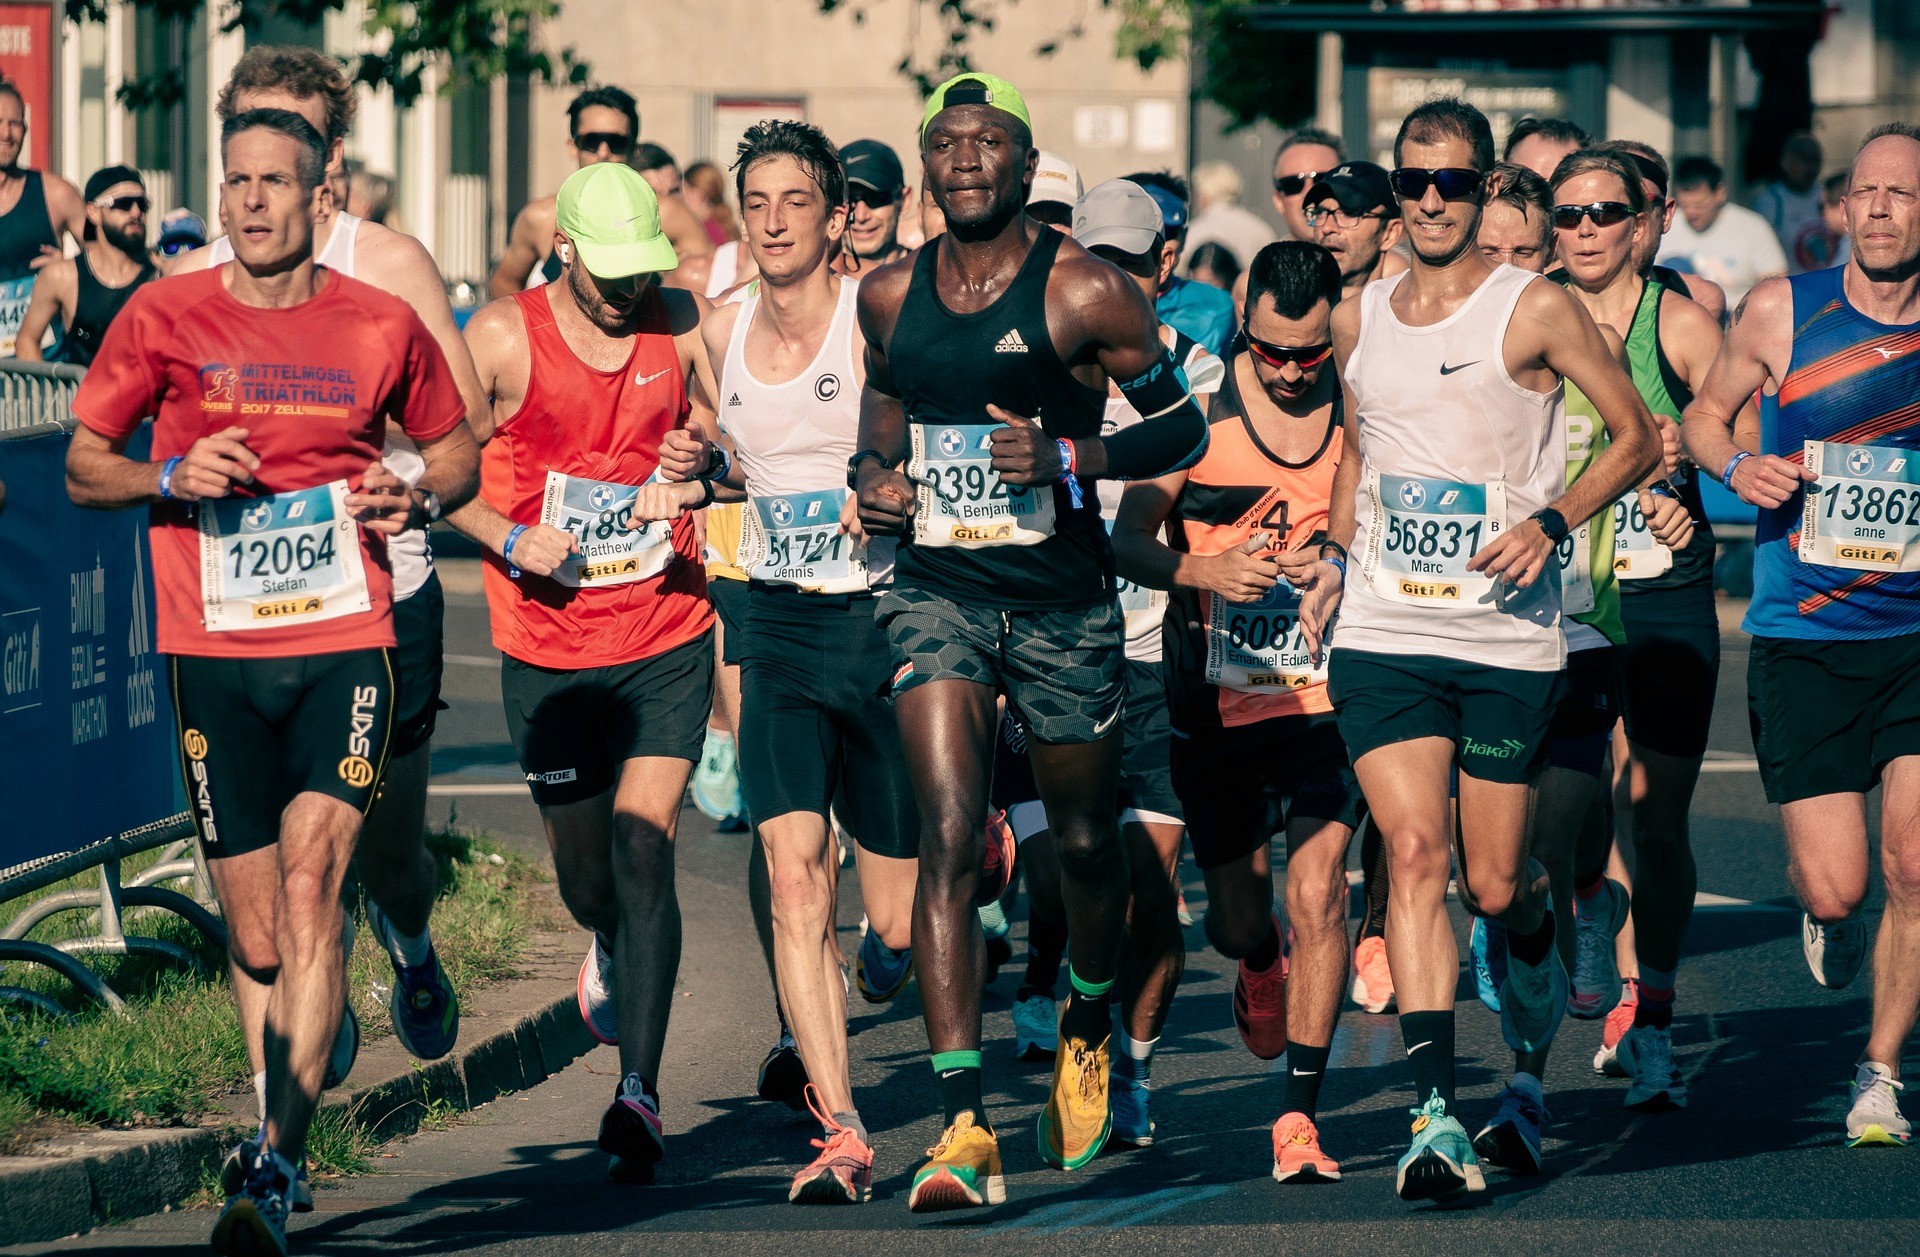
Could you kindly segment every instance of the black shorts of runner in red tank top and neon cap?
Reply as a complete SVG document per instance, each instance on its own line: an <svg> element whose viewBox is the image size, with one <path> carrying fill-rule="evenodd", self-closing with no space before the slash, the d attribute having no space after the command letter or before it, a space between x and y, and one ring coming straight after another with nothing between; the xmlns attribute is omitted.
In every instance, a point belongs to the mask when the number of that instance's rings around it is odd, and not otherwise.
<svg viewBox="0 0 1920 1257"><path fill-rule="evenodd" d="M563 672L499 660L507 737L541 808L593 798L626 760L699 764L714 697L710 631L664 654Z"/></svg>

